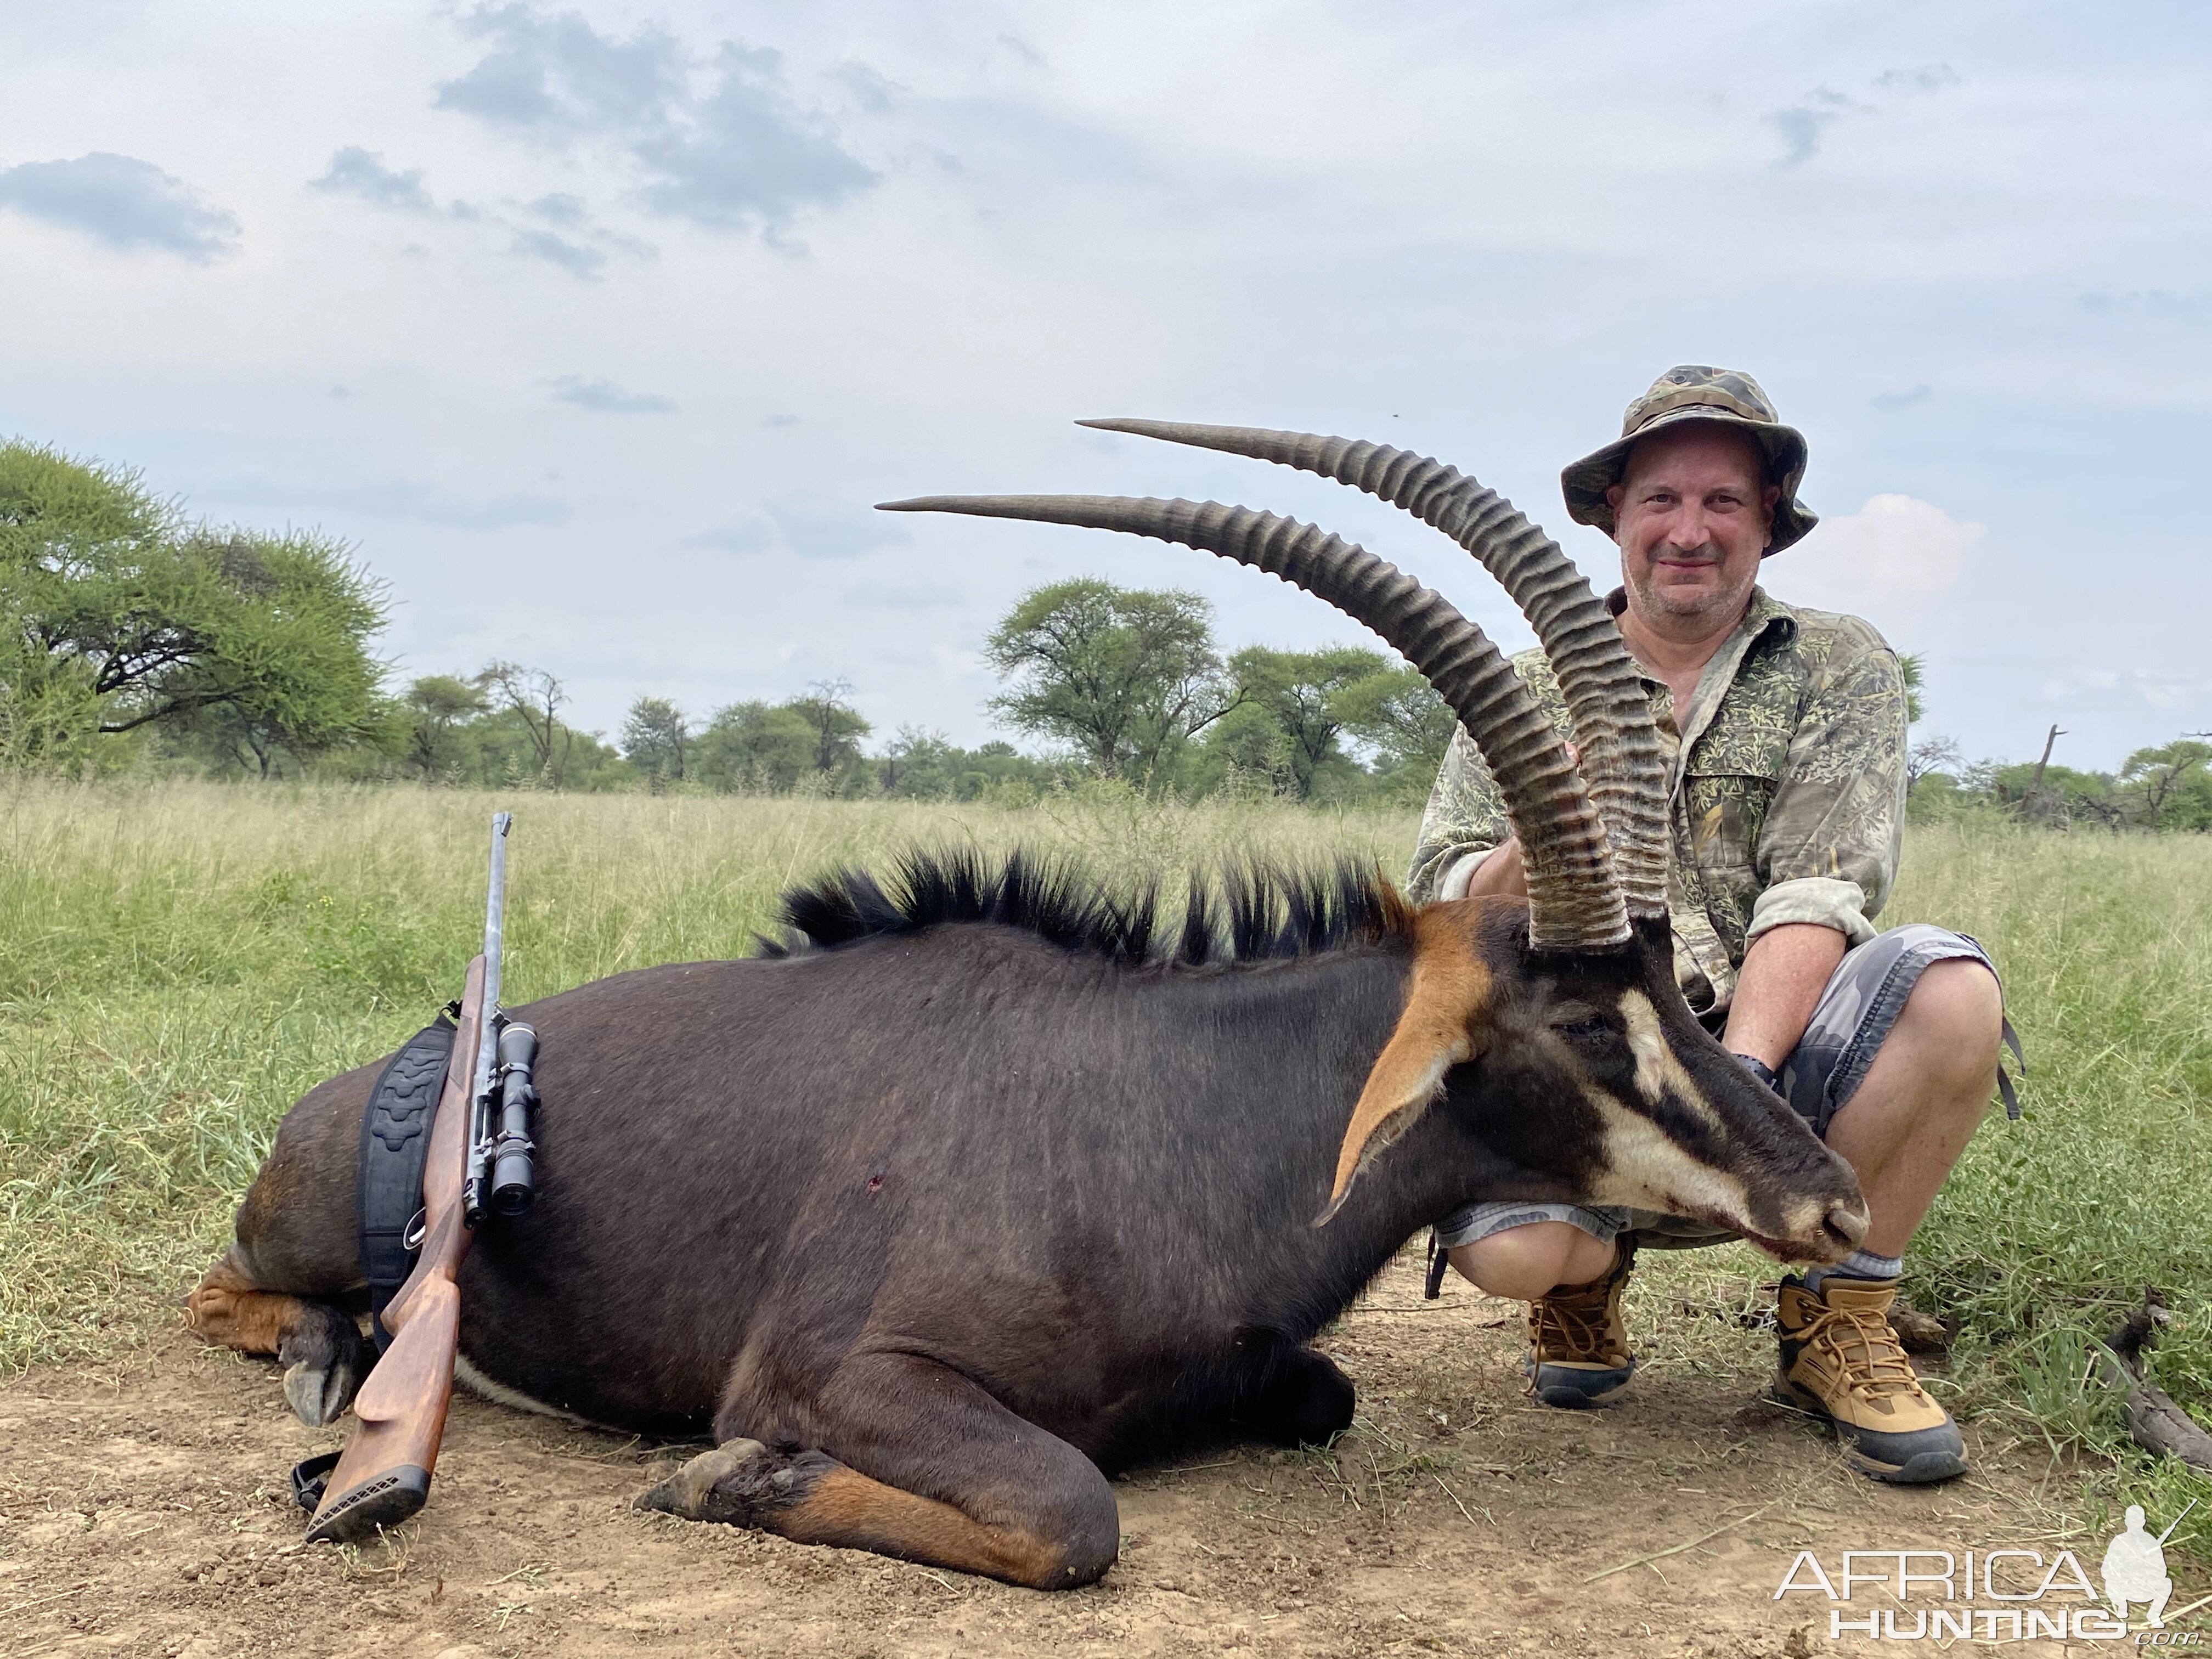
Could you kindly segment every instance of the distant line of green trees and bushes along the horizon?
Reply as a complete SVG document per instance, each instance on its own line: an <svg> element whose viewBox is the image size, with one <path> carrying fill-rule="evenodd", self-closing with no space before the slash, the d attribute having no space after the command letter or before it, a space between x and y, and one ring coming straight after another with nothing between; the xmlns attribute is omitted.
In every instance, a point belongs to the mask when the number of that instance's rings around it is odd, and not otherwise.
<svg viewBox="0 0 2212 1659"><path fill-rule="evenodd" d="M991 717L1042 752L898 726L878 739L845 679L690 714L639 697L615 741L564 719L546 668L491 661L392 688L383 584L314 531L212 526L128 469L0 445L0 768L131 765L425 785L973 801L1084 776L1152 794L1420 801L1453 732L1411 668L1356 646L1223 655L1186 591L1084 577L1022 595L984 639ZM1907 659L1920 719L1920 661ZM1913 816L2212 830L2212 734L2117 772L1966 765L1913 743Z"/></svg>

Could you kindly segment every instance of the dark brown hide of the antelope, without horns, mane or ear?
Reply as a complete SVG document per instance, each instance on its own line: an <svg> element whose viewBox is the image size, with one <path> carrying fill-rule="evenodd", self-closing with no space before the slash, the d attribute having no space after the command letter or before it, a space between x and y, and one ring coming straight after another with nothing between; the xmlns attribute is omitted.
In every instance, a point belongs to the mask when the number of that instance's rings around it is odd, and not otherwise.
<svg viewBox="0 0 2212 1659"><path fill-rule="evenodd" d="M942 1533L914 1531L933 1511L863 1524L865 1486L836 1484L810 1486L805 1537L1018 1582L1035 1579L1006 1553L1044 1559L1044 1540L1051 1582L1086 1582L1113 1559L1104 1473L1349 1422L1349 1383L1305 1343L1413 1230L1467 1199L1588 1194L1608 1159L1588 1084L1635 1097L1624 993L1679 1011L1666 1033L1705 1095L1637 1110L1754 1190L1858 1203L1690 1020L1663 929L1540 958L1522 907L1455 909L1420 938L1460 940L1460 980L1493 987L1467 1013L1478 1060L1325 1228L1352 1104L1407 1006L1416 931L1394 902L1307 918L1294 956L1201 964L1146 958L1119 922L856 922L836 949L518 1009L540 1033L538 1203L482 1228L462 1354L595 1422L823 1453L998 1528L931 1553L911 1540ZM352 1148L380 1064L279 1135L239 1217L259 1290L358 1283Z"/></svg>

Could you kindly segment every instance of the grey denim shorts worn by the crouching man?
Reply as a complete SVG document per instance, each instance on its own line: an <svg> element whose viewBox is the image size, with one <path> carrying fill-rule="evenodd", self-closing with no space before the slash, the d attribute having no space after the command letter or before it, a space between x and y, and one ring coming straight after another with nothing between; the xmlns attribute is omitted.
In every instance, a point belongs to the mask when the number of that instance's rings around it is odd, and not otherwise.
<svg viewBox="0 0 2212 1659"><path fill-rule="evenodd" d="M1843 953L1836 971L1820 993L1820 1002L1805 1024L1805 1035L1781 1066L1783 1099L1803 1117L1812 1133L1827 1139L1827 1126L1858 1093L1874 1066L1874 1055L1882 1051L1905 998L1920 984L1920 975L1931 962L1969 960L1980 962L1991 973L1997 971L1989 953L1966 933L1951 933L1942 927L1913 922L1876 933L1865 945ZM2013 1055L2020 1055L2020 1040L2011 1022L2004 1040ZM1997 1086L2004 1091L2004 1108L2020 1117L2020 1102L2013 1097L2011 1079L2000 1071ZM1442 1248L1475 1243L1506 1228L1524 1228L1531 1221L1566 1221L1582 1228L1593 1239L1613 1243L1630 1232L1641 1245L1688 1248L1721 1243L1732 1239L1703 1221L1657 1214L1652 1210L1628 1210L1621 1206L1579 1203L1464 1203L1436 1223L1436 1241Z"/></svg>

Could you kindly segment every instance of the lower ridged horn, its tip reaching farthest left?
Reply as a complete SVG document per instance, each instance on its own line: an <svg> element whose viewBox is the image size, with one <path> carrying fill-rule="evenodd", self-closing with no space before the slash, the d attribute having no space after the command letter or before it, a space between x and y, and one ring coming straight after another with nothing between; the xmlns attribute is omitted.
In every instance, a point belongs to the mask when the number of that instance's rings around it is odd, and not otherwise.
<svg viewBox="0 0 2212 1659"><path fill-rule="evenodd" d="M1535 697L1442 595L1363 546L1294 518L1135 495L918 495L889 513L973 513L1181 542L1279 575L1374 628L1460 717L1498 779L1528 869L1528 942L1593 951L1628 938L1606 827Z"/></svg>

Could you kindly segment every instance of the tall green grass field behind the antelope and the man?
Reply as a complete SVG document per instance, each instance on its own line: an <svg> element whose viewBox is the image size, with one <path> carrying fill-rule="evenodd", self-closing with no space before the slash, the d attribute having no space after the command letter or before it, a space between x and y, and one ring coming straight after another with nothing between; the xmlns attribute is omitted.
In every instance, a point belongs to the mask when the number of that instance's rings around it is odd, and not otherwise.
<svg viewBox="0 0 2212 1659"><path fill-rule="evenodd" d="M511 1002L739 953L785 883L914 843L1060 847L1172 883L1230 852L1396 872L1413 838L1411 812L1113 790L1004 810L7 785L0 1371L175 1321L292 1099L456 993L493 805L518 807ZM2212 1482L2130 1453L2110 1396L2079 1383L2084 1343L2157 1285L2174 1325L2154 1378L2212 1416L2212 838L1916 827L1882 920L1975 933L2028 1044L2026 1121L1991 1117L1911 1256L1909 1294L1962 1321L1953 1407L2086 1453L2095 1504L2212 1509ZM1639 1281L1730 1298L1772 1276L1725 1250Z"/></svg>

